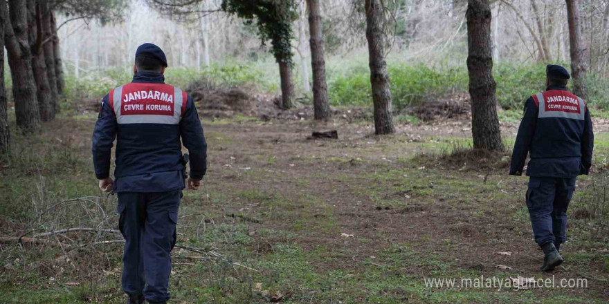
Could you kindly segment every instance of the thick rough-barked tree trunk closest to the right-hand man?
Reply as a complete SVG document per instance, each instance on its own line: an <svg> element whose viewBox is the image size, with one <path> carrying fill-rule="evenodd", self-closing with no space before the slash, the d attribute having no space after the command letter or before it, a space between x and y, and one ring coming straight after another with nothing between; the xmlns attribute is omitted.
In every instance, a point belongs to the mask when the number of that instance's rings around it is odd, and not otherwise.
<svg viewBox="0 0 609 304"><path fill-rule="evenodd" d="M489 0L469 0L466 17L473 148L501 151L504 147L495 99Z"/></svg>

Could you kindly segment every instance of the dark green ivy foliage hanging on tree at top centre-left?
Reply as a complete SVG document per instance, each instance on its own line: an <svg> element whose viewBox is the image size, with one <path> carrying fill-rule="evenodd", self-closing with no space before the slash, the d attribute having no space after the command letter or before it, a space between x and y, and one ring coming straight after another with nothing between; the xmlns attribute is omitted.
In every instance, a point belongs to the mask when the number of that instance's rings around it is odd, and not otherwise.
<svg viewBox="0 0 609 304"><path fill-rule="evenodd" d="M298 18L293 0L223 0L222 10L254 21L264 45L271 40L271 52L278 62L292 65L292 21Z"/></svg>

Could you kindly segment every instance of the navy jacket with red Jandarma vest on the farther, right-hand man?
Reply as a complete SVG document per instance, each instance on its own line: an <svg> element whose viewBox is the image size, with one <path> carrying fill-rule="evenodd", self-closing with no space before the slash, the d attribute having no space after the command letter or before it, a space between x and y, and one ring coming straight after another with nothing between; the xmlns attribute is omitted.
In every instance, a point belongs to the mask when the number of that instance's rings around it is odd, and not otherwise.
<svg viewBox="0 0 609 304"><path fill-rule="evenodd" d="M593 148L588 107L564 86L550 86L525 103L509 174L522 175L527 153L531 155L528 176L572 178L588 174Z"/></svg>

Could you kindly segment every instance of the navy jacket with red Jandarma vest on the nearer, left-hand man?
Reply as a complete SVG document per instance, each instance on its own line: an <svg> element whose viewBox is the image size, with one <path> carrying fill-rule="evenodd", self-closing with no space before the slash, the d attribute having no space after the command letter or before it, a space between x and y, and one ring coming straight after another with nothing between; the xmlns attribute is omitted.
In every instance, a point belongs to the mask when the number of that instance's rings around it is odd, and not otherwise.
<svg viewBox="0 0 609 304"><path fill-rule="evenodd" d="M183 189L182 143L190 154L190 178L207 169L207 144L192 98L165 84L159 73L140 72L102 99L93 131L96 178L110 176L116 138L113 192ZM180 142L180 138L182 142Z"/></svg>

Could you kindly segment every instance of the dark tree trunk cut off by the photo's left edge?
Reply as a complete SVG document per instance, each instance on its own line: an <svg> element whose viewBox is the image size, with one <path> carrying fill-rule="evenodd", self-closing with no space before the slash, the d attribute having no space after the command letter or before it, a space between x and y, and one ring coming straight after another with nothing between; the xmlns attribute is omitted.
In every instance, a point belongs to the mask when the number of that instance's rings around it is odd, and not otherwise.
<svg viewBox="0 0 609 304"><path fill-rule="evenodd" d="M0 37L4 37L4 25L8 14L6 3L0 3ZM4 39L0 39L0 155L10 151L10 129L6 113L6 89L4 87Z"/></svg>

